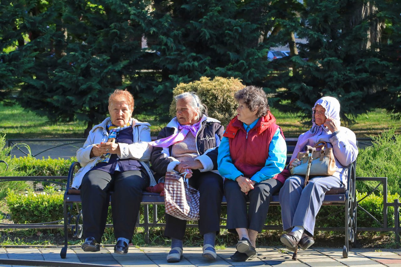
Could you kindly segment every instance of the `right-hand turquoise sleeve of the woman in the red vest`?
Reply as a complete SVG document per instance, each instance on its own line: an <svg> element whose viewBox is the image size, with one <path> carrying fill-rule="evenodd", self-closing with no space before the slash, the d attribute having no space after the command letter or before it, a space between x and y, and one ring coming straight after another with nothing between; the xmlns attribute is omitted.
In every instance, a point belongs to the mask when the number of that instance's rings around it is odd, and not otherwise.
<svg viewBox="0 0 401 267"><path fill-rule="evenodd" d="M284 170L287 160L287 145L286 140L280 134L280 129L277 129L269 146L269 157L265 162L265 166L255 173L251 180L261 182L273 178Z"/></svg>

